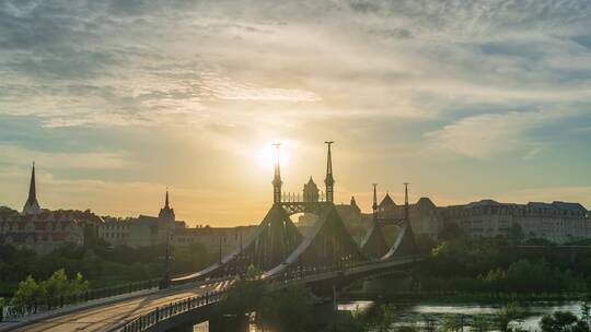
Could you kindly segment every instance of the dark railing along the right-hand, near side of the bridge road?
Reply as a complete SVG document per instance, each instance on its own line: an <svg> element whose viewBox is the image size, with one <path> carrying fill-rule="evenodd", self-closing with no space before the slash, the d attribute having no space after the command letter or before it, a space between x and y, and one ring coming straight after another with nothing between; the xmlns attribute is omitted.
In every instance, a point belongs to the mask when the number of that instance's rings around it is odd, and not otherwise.
<svg viewBox="0 0 591 332"><path fill-rule="evenodd" d="M136 319L125 323L123 327L119 327L112 331L117 332L141 332L147 331L148 329L157 325L159 322L166 319L173 318L175 316L202 308L207 305L218 303L225 290L218 290L212 293L206 293L201 296L189 297L182 299L170 305L158 307L154 310L141 315Z"/></svg>

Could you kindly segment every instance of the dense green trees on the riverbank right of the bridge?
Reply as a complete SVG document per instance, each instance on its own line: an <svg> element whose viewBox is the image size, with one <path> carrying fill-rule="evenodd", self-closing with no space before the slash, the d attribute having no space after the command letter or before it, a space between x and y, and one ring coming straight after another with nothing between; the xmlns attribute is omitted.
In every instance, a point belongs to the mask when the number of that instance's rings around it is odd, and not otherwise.
<svg viewBox="0 0 591 332"><path fill-rule="evenodd" d="M456 233L452 232L455 226L449 227L448 235ZM540 259L520 251L507 254L510 249L502 238L444 238L417 265L416 284L421 290L533 295L586 292L591 287L591 248L576 260L552 252Z"/></svg>

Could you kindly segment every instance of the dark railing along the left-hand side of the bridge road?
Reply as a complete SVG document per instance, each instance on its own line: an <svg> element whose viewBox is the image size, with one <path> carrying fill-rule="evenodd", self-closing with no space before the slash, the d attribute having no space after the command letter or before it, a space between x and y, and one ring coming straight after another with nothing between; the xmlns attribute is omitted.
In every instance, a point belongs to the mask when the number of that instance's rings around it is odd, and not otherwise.
<svg viewBox="0 0 591 332"><path fill-rule="evenodd" d="M0 307L0 322L26 317L39 312L46 312L66 306L78 305L96 300L101 298L108 298L113 296L129 294L143 289L151 289L159 285L160 280L147 280L141 282L126 283L112 287L102 287L89 289L83 293L63 295L56 297L39 297L33 301L20 305L8 305Z"/></svg>

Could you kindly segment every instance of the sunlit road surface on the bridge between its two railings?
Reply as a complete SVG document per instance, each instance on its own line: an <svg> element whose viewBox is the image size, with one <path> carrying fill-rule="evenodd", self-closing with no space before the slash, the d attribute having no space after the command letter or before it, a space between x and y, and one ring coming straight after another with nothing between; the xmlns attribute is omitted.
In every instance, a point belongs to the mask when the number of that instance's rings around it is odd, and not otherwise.
<svg viewBox="0 0 591 332"><path fill-rule="evenodd" d="M230 285L224 281L216 284L200 285L193 288L182 287L161 290L142 297L121 300L115 304L101 305L93 308L81 309L74 312L47 318L37 322L8 331L27 332L71 332L71 331L108 331L124 321L129 321L140 315L147 313L157 307L171 303L204 295L206 292L221 290Z"/></svg>

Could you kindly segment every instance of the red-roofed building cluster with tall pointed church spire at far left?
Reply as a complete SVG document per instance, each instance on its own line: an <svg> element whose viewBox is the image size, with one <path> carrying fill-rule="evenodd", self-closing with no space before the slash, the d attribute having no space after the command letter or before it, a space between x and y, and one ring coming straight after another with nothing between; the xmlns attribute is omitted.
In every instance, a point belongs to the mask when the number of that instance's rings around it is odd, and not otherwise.
<svg viewBox="0 0 591 332"><path fill-rule="evenodd" d="M0 218L0 244L47 254L65 244L82 246L88 227L102 223L90 211L43 210L36 197L35 166L22 214Z"/></svg>

